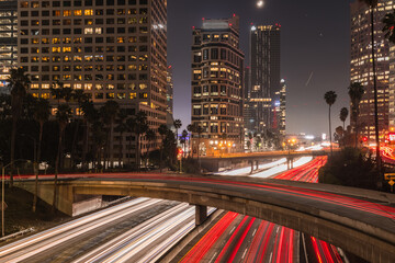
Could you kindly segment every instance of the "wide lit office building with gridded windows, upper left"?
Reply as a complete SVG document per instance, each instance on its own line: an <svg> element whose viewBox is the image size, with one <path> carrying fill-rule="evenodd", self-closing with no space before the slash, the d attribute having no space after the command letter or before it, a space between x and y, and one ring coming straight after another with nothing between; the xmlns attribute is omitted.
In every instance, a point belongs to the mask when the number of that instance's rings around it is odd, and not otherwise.
<svg viewBox="0 0 395 263"><path fill-rule="evenodd" d="M30 93L50 99L49 88L60 81L83 90L98 106L114 100L131 115L146 112L155 132L166 124L166 0L19 0L18 4L18 59L31 76ZM114 158L126 141L121 158L134 159L135 136L124 133L120 139L116 132L114 136ZM143 153L159 146L146 142Z"/></svg>

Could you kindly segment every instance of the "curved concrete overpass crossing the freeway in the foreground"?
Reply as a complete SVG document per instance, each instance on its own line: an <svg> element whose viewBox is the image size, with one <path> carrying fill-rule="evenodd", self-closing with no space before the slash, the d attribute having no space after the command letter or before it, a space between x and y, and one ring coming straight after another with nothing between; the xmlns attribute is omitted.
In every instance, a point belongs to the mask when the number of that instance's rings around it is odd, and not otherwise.
<svg viewBox="0 0 395 263"><path fill-rule="evenodd" d="M34 191L34 181L15 185ZM336 185L281 180L181 174L91 174L63 179L57 207L72 214L84 195L145 196L253 216L340 247L370 262L395 262L395 195ZM53 182L40 182L40 197L53 199Z"/></svg>

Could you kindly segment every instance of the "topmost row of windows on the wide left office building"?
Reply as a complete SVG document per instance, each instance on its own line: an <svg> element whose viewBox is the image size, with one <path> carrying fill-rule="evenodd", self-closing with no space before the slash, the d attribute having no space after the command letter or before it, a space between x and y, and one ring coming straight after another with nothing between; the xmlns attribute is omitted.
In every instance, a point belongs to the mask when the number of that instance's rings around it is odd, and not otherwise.
<svg viewBox="0 0 395 263"><path fill-rule="evenodd" d="M52 5L50 5L52 2ZM113 5L135 5L135 4L148 4L148 0L74 0L74 1L21 1L20 8L59 8L59 7L66 7L69 8L71 4L74 7L82 7L82 3L84 7L102 7L104 4L113 7Z"/></svg>

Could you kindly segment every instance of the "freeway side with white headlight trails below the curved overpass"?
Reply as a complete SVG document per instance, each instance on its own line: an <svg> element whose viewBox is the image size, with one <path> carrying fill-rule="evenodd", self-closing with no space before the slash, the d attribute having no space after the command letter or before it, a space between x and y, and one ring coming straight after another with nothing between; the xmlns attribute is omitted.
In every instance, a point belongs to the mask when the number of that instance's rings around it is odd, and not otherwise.
<svg viewBox="0 0 395 263"><path fill-rule="evenodd" d="M169 206L167 203L160 199L136 198L59 225L1 247L0 262L70 262L74 258L79 258L76 262L156 259L194 227L192 206ZM122 227L123 232L124 229L131 229L126 233L109 232L112 225L134 221L138 217L140 220L136 221L132 229ZM100 252L95 249L84 254L102 240L109 242L100 245Z"/></svg>

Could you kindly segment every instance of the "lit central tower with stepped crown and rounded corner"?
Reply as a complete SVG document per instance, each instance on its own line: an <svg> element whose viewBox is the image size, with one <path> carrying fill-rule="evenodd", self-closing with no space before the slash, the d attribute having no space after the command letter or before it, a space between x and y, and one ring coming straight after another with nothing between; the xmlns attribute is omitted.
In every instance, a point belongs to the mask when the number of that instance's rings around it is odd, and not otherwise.
<svg viewBox="0 0 395 263"><path fill-rule="evenodd" d="M192 124L203 128L202 155L242 150L242 73L239 18L203 20L192 45Z"/></svg>

